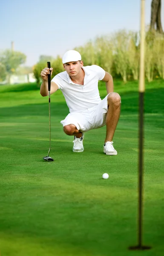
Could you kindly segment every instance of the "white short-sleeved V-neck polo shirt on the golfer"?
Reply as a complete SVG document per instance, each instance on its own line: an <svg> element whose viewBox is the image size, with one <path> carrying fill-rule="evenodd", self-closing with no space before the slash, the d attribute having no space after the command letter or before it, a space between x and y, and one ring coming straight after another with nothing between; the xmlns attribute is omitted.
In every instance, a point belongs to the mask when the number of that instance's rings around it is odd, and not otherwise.
<svg viewBox="0 0 164 256"><path fill-rule="evenodd" d="M101 102L98 81L104 78L105 71L97 65L82 68L85 72L83 85L73 83L66 71L52 79L62 91L70 113L85 111Z"/></svg>

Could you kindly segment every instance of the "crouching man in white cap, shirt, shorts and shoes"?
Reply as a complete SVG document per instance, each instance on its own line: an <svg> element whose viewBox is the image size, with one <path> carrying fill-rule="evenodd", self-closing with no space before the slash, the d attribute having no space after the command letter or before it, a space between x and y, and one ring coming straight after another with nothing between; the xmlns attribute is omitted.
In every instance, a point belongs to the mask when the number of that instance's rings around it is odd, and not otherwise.
<svg viewBox="0 0 164 256"><path fill-rule="evenodd" d="M51 81L51 94L60 89L66 99L69 114L60 123L67 135L74 136L73 152L83 152L84 132L106 125L104 153L116 155L113 136L120 116L121 98L113 92L112 76L97 65L83 67L79 52L69 50L63 55L66 71L56 75ZM48 96L48 74L53 68L45 67L40 76L43 82L40 94ZM106 82L107 96L101 100L98 81Z"/></svg>

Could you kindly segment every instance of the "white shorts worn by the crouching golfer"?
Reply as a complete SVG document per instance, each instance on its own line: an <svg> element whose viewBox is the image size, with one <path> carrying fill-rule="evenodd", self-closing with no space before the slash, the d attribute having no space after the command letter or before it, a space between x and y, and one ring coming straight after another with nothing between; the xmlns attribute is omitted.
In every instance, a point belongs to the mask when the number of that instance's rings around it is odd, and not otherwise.
<svg viewBox="0 0 164 256"><path fill-rule="evenodd" d="M108 95L95 107L88 108L82 112L69 113L60 123L65 125L75 125L79 131L89 131L97 129L106 124L106 113L108 111Z"/></svg>

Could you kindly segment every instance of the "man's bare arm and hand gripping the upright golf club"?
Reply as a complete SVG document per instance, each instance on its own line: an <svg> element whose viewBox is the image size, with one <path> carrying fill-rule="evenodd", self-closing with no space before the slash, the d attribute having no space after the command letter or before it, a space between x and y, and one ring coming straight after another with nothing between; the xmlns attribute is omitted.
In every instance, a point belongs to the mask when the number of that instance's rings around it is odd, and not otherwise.
<svg viewBox="0 0 164 256"><path fill-rule="evenodd" d="M50 69L48 67L45 67L41 73L40 76L43 79L42 84L40 85L40 94L41 96L45 97L49 95L49 90L48 90L48 74L49 71L51 71L51 75L52 75L52 71L53 68L51 67ZM57 90L59 89L58 85L55 84L54 82L51 82L51 90L50 93L55 93Z"/></svg>

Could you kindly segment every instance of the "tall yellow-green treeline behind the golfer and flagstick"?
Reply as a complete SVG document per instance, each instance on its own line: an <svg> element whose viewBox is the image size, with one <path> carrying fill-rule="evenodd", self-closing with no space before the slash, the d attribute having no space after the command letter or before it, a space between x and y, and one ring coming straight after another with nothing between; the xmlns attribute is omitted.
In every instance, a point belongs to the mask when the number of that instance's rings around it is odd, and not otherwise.
<svg viewBox="0 0 164 256"><path fill-rule="evenodd" d="M121 30L113 35L105 35L89 41L81 47L76 47L84 62L84 66L96 64L113 78L138 80L140 37L137 32ZM34 66L34 74L40 82L40 72L46 61L40 60ZM63 70L62 59L58 56L51 60L54 69L53 76ZM164 79L164 35L158 32L146 32L145 37L145 76L148 81L155 77Z"/></svg>

